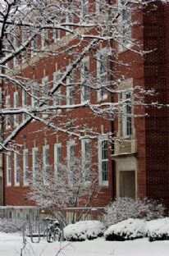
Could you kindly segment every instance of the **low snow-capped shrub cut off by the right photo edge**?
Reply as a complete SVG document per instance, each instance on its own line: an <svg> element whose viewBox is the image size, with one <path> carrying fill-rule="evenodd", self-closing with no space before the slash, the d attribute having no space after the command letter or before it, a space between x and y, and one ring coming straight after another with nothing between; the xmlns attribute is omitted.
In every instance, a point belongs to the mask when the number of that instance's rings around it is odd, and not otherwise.
<svg viewBox="0 0 169 256"><path fill-rule="evenodd" d="M147 222L146 230L150 241L169 240L169 217Z"/></svg>

